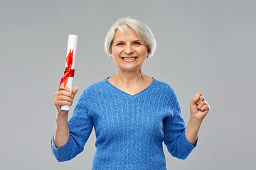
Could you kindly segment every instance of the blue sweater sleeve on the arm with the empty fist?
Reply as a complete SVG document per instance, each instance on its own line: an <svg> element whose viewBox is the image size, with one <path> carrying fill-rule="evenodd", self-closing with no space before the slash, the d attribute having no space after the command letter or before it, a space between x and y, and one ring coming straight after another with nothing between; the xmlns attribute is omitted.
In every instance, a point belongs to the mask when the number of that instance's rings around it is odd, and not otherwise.
<svg viewBox="0 0 256 170"><path fill-rule="evenodd" d="M181 116L181 107L175 92L171 98L174 100L170 111L172 116L164 119L164 144L173 157L186 159L197 142L194 146L186 139L186 123Z"/></svg>

